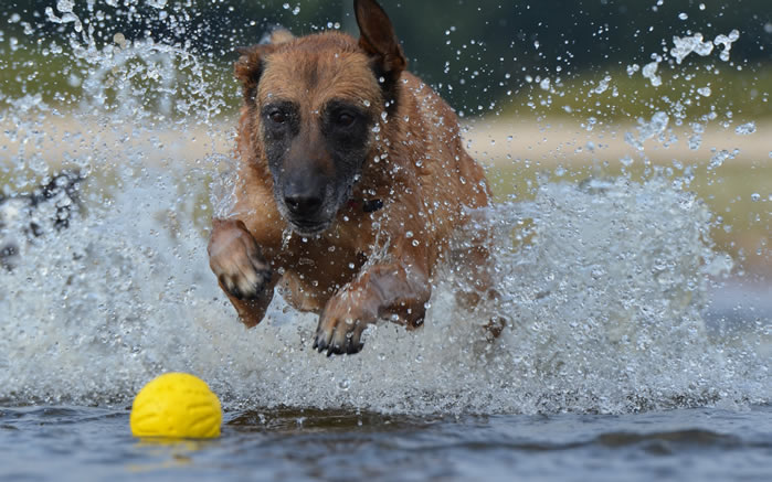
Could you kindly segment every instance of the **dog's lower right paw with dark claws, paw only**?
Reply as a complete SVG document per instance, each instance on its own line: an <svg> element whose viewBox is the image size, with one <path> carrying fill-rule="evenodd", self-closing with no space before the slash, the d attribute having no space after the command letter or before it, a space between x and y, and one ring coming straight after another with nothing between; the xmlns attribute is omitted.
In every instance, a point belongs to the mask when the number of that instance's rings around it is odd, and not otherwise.
<svg viewBox="0 0 772 482"><path fill-rule="evenodd" d="M376 321L372 313L361 310L361 306L349 302L349 296L332 297L319 317L314 349L327 356L343 353L352 354L362 350L362 332Z"/></svg>

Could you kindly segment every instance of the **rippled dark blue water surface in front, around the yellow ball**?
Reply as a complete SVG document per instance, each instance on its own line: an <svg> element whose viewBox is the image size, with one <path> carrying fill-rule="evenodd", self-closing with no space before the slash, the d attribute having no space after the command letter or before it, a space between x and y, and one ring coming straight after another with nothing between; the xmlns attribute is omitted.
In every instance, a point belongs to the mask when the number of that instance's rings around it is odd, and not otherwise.
<svg viewBox="0 0 772 482"><path fill-rule="evenodd" d="M0 410L0 460L8 480L761 481L771 415L246 410L226 417L218 440L158 442L133 439L125 410L27 407Z"/></svg>

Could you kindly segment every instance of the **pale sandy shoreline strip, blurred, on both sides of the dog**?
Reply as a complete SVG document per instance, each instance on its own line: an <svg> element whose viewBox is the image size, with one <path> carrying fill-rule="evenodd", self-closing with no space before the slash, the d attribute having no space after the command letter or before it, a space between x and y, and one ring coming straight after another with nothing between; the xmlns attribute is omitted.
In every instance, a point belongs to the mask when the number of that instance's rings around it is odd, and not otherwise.
<svg viewBox="0 0 772 482"><path fill-rule="evenodd" d="M61 165L65 157L94 154L94 142L112 146L107 147L110 150L121 141L131 148L152 147L144 154L150 164L161 160L195 161L213 153L231 153L235 146L235 122L234 115L232 120L218 120L211 127L190 122L192 127L182 129L170 122L169 128L144 131L135 129L130 122L108 127L101 126L97 118L84 121L80 116L64 115L46 118L33 125L36 132L27 132L24 126L13 126L6 118L0 121L0 143L4 147L0 151L0 162L7 163L11 157L18 156L21 143L19 139L28 139L25 156L38 152L52 167ZM588 130L581 122L568 118L540 122L522 118L477 118L466 122L463 137L469 153L487 165L507 165L512 161L528 159L544 167L569 167L596 161L618 162L625 157L639 160L642 154L660 164L669 164L673 160L683 164L705 164L710 162L716 152L733 152L736 149L738 153L731 162L769 160L772 142L766 136L772 133L772 120L758 121L755 132L751 135L736 133L736 127L741 124L743 122L733 122L726 129L717 121L708 125L701 133L700 147L696 150L688 146L689 138L694 136L689 126L668 126L677 138L676 142L664 147L655 136L645 141L644 151L638 152L625 142L625 132L637 136L636 125L596 125ZM2 133L13 130L19 130L14 141Z"/></svg>

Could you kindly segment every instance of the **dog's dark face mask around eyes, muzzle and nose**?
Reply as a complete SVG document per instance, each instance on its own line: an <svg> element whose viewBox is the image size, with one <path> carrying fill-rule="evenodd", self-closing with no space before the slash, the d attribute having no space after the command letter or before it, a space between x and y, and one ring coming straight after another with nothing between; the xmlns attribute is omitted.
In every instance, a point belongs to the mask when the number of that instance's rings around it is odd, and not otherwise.
<svg viewBox="0 0 772 482"><path fill-rule="evenodd" d="M298 234L328 228L361 176L374 120L358 104L331 98L313 109L284 98L260 108L276 205Z"/></svg>

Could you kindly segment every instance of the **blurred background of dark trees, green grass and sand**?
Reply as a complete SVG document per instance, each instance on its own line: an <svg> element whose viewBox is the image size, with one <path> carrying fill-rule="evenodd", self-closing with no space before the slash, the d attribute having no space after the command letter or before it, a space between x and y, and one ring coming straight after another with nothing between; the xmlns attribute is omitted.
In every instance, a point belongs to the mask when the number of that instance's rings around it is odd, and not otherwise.
<svg viewBox="0 0 772 482"><path fill-rule="evenodd" d="M13 111L11 99L31 96L65 117L92 109L88 76L99 71L104 55L89 56L89 49L104 53L151 41L194 56L195 62L180 62L188 58L180 56L173 68L195 71L203 87L158 84L142 67L134 78L135 87L146 90L140 107L163 119L184 119L195 114L186 108L194 104L188 98L208 96L209 130L211 125L232 126L241 101L231 75L234 47L256 43L276 24L295 34L326 29L356 33L350 3L7 0L0 12L0 105ZM769 0L382 4L404 43L410 68L463 117L468 149L489 165L500 200L528 199L544 179L667 176L709 204L712 237L740 261L736 274L769 283ZM674 38L697 34L712 52L673 52ZM133 62L99 73L105 86L101 103L118 101L113 83L133 65L151 63ZM7 132L7 139L0 136L0 169L9 179L20 147L8 136L12 119L4 115L0 122ZM231 139L219 142L225 146ZM181 151L191 158L198 152Z"/></svg>

